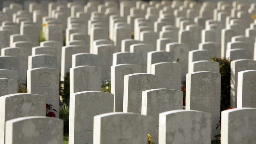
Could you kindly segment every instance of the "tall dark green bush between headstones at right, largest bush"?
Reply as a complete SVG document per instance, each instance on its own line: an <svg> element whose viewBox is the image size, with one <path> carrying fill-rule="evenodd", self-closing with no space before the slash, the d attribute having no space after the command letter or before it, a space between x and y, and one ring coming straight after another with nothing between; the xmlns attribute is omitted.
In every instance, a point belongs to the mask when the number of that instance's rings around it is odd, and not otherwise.
<svg viewBox="0 0 256 144"><path fill-rule="evenodd" d="M221 111L230 107L230 60L226 58L211 58L210 61L220 63L221 74Z"/></svg>

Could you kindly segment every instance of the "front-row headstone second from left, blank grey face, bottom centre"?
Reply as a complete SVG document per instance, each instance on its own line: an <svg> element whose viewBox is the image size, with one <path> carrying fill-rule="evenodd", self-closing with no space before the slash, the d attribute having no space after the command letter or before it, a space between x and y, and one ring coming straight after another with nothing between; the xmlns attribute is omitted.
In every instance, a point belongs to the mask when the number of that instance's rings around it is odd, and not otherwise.
<svg viewBox="0 0 256 144"><path fill-rule="evenodd" d="M93 143L147 143L147 117L135 113L94 116Z"/></svg>

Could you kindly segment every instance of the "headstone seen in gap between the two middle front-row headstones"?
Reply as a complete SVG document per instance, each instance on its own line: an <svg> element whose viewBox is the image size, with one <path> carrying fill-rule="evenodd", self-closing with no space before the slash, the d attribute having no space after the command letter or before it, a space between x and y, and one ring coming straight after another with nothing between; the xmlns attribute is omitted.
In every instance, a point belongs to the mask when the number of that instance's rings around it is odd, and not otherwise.
<svg viewBox="0 0 256 144"><path fill-rule="evenodd" d="M174 89L150 89L142 91L141 114L148 117L149 131L158 143L159 113L183 108L183 92Z"/></svg>

